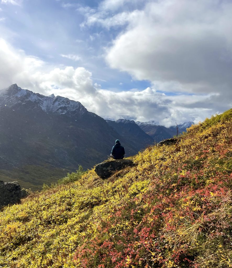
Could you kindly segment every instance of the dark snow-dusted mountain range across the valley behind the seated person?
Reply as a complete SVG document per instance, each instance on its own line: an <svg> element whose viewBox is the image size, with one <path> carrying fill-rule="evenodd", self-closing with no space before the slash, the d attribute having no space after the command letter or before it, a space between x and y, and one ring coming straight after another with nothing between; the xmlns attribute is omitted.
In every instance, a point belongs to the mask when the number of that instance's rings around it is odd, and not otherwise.
<svg viewBox="0 0 232 268"><path fill-rule="evenodd" d="M78 101L13 84L0 91L0 179L39 189L105 160L116 139L130 156L175 135L174 127L165 131L153 122L104 120Z"/></svg>

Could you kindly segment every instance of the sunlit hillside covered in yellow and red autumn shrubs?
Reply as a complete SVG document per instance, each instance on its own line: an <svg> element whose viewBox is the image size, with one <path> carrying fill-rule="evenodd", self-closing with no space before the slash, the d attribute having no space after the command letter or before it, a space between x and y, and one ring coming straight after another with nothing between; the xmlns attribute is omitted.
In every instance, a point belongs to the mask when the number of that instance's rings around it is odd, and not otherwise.
<svg viewBox="0 0 232 268"><path fill-rule="evenodd" d="M232 109L0 213L0 267L231 267Z"/></svg>

